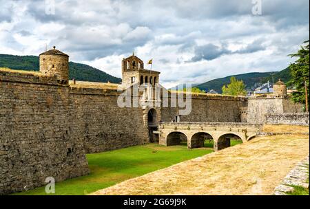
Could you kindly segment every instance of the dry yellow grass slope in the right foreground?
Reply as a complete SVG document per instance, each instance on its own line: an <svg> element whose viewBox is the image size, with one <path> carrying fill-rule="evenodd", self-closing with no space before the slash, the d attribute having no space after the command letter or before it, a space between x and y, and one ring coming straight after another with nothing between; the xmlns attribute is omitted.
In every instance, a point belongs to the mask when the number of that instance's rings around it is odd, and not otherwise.
<svg viewBox="0 0 310 209"><path fill-rule="evenodd" d="M285 175L307 155L307 135L258 137L93 195L272 195Z"/></svg>

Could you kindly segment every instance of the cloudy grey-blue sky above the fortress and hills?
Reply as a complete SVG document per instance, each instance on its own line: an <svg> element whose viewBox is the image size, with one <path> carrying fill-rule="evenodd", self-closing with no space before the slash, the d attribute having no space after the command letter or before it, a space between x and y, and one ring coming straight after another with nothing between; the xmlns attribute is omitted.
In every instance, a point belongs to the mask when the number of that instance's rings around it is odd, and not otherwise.
<svg viewBox="0 0 310 209"><path fill-rule="evenodd" d="M0 54L39 55L45 45L56 45L70 61L121 78L121 59L134 51L145 63L153 58L165 87L279 71L293 62L287 54L309 39L308 0L0 0L0 5Z"/></svg>

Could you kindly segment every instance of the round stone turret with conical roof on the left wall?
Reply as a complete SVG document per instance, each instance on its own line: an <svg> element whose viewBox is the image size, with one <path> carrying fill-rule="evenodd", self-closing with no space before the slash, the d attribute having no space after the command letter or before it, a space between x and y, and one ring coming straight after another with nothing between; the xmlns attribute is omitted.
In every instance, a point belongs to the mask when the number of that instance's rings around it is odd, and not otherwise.
<svg viewBox="0 0 310 209"><path fill-rule="evenodd" d="M40 72L48 76L56 76L59 83L68 85L69 56L63 52L52 50L40 54Z"/></svg>

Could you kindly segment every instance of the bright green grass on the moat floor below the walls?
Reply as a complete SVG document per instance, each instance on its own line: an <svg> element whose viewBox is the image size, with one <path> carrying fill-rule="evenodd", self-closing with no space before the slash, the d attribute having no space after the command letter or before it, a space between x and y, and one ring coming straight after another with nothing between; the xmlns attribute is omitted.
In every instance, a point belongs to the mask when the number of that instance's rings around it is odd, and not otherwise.
<svg viewBox="0 0 310 209"><path fill-rule="evenodd" d="M188 159L211 153L211 149L145 144L116 151L87 154L90 175L56 183L55 195L87 195L126 179L166 168ZM45 187L13 195L47 195Z"/></svg>

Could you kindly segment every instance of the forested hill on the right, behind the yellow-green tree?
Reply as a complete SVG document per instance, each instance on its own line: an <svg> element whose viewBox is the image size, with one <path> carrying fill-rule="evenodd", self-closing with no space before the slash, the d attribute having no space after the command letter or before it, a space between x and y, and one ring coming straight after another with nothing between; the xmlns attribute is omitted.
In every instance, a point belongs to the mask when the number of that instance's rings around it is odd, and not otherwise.
<svg viewBox="0 0 310 209"><path fill-rule="evenodd" d="M230 83L230 78L232 76L227 76L225 78L217 78L214 80L209 80L206 83L202 83L200 85L196 85L199 89L209 91L210 89L214 89L218 93L222 93L223 85L227 85ZM238 80L243 80L245 85L247 85L247 89L254 89L260 83L267 83L269 80L270 82L276 82L279 80L283 80L285 83L289 81L291 78L291 74L289 72L289 68L283 69L280 72L265 72L265 73L248 73L248 74L239 74L234 75Z"/></svg>

